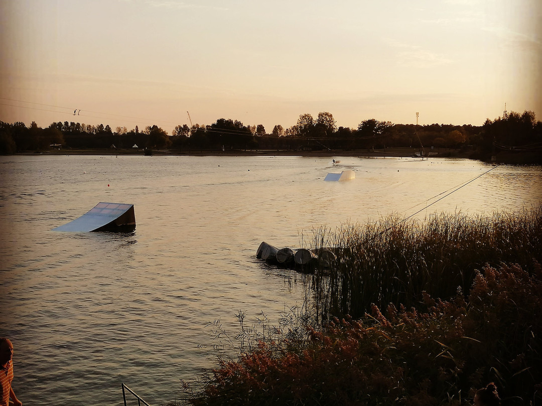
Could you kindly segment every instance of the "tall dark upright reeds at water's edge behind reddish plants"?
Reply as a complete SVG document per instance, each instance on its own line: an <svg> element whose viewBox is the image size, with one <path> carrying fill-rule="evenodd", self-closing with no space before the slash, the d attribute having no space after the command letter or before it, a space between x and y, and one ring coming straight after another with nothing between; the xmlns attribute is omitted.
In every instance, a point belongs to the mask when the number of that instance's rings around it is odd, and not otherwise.
<svg viewBox="0 0 542 406"><path fill-rule="evenodd" d="M372 304L418 307L423 293L447 300L468 292L485 264L517 263L527 271L542 259L542 205L492 215L441 213L424 221L397 215L365 225L313 231L315 252L335 261L317 269L311 287L317 321L363 316Z"/></svg>

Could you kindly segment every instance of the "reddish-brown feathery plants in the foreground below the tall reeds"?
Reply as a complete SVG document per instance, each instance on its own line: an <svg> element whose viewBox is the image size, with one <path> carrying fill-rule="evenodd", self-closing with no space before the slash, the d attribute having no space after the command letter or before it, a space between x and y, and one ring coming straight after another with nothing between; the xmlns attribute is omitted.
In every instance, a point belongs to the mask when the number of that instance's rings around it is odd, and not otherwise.
<svg viewBox="0 0 542 406"><path fill-rule="evenodd" d="M307 326L308 340L259 340L221 360L185 404L469 406L488 382L503 405L542 404L540 265L486 266L468 295L424 295L424 306L372 306Z"/></svg>

